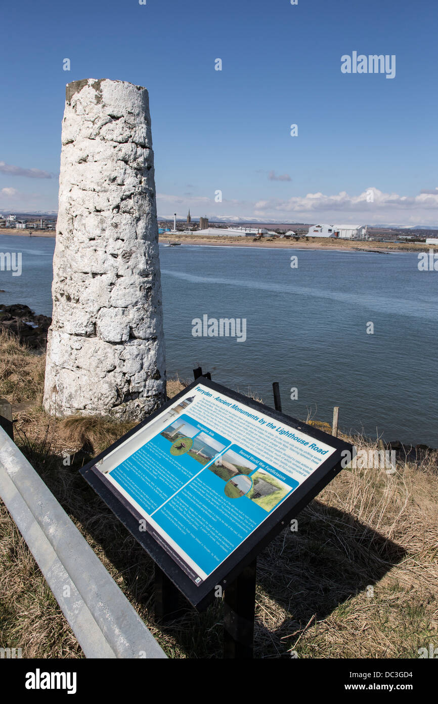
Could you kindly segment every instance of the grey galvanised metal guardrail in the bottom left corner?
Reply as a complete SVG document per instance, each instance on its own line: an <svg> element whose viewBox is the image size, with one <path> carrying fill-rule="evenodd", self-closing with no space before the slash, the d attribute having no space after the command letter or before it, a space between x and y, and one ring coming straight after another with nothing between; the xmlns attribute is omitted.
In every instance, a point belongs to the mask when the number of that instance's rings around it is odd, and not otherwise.
<svg viewBox="0 0 438 704"><path fill-rule="evenodd" d="M86 658L167 658L89 543L3 427L0 427L0 496Z"/></svg>

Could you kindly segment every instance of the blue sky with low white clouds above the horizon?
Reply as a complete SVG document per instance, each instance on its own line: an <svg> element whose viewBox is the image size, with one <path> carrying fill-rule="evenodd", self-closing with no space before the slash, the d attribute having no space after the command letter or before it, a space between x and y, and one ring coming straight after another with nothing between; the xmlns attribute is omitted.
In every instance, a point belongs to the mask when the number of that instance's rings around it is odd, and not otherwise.
<svg viewBox="0 0 438 704"><path fill-rule="evenodd" d="M437 20L432 0L8 3L0 210L57 209L65 84L106 77L148 88L159 215L438 225ZM395 77L341 73L353 51Z"/></svg>

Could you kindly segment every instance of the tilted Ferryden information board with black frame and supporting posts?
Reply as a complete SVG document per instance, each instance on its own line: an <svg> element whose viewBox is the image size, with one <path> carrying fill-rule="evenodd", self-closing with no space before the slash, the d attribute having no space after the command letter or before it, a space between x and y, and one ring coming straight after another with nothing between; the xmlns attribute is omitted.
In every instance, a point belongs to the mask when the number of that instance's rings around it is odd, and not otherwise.
<svg viewBox="0 0 438 704"><path fill-rule="evenodd" d="M155 561L157 617L180 613L179 592L200 611L224 592L224 657L250 658L257 555L340 472L342 451L200 376L80 471Z"/></svg>

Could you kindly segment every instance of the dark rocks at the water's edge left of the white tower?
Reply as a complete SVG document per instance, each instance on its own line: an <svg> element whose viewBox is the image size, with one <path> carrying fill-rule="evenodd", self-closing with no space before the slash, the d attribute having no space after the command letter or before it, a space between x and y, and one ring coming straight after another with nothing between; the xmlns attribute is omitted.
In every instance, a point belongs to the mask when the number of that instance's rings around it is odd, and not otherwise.
<svg viewBox="0 0 438 704"><path fill-rule="evenodd" d="M20 342L36 350L45 348L51 320L47 315L35 315L22 303L0 305L0 327L13 332Z"/></svg>

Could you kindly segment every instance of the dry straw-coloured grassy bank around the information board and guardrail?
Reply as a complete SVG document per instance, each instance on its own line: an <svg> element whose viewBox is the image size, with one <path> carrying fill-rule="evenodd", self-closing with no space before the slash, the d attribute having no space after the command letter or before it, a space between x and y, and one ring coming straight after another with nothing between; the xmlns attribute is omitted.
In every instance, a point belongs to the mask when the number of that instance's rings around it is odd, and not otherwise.
<svg viewBox="0 0 438 704"><path fill-rule="evenodd" d="M0 396L15 441L171 658L221 656L221 601L169 627L153 616L153 562L78 473L132 424L49 419L44 358L0 337ZM183 382L168 383L174 396ZM28 403L23 404L23 401ZM353 438L358 448L368 447ZM70 461L70 465L67 464ZM344 470L257 560L257 658L417 658L438 646L436 458L397 472ZM0 502L0 647L82 658L39 568Z"/></svg>

